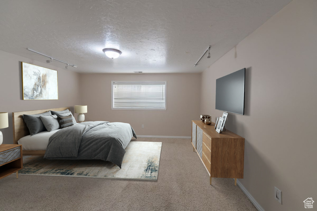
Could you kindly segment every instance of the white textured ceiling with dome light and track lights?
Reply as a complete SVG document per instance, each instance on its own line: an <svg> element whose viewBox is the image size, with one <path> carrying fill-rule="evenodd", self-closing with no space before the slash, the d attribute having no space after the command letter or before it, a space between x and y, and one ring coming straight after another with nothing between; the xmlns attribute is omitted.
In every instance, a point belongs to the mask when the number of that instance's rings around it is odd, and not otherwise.
<svg viewBox="0 0 317 211"><path fill-rule="evenodd" d="M290 0L1 0L0 50L103 73L202 72ZM211 58L193 64L211 45ZM103 48L120 49L109 59ZM54 61L51 65L65 68Z"/></svg>

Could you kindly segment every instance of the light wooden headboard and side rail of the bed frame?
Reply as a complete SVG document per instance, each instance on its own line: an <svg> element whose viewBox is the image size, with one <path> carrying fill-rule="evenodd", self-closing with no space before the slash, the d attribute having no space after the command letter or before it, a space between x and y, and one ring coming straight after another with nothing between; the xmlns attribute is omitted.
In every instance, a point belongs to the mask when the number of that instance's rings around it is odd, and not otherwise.
<svg viewBox="0 0 317 211"><path fill-rule="evenodd" d="M23 121L22 115L32 115L32 114L41 114L47 111L63 111L65 109L69 110L69 107L57 108L57 109L43 109L43 110L34 110L34 111L20 111L12 112L12 123L13 123L13 141L14 144L18 144L18 140L24 136L30 134L29 128L26 126ZM44 155L45 150L23 150L23 155Z"/></svg>

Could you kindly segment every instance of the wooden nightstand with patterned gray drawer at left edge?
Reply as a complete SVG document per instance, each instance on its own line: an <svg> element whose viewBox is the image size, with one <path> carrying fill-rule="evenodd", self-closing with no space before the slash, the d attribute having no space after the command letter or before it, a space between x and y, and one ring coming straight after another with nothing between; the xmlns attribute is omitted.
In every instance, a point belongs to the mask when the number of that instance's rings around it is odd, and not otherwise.
<svg viewBox="0 0 317 211"><path fill-rule="evenodd" d="M0 145L0 179L23 168L22 145L2 144Z"/></svg>

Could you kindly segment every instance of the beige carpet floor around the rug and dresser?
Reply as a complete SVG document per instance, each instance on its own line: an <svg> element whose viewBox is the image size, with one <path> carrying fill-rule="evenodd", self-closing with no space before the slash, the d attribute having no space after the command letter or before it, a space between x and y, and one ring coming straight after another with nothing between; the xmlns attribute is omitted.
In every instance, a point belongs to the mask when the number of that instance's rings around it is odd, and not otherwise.
<svg viewBox="0 0 317 211"><path fill-rule="evenodd" d="M157 181L15 174L0 180L0 210L239 210L256 211L230 178L213 178L190 139L162 142Z"/></svg>

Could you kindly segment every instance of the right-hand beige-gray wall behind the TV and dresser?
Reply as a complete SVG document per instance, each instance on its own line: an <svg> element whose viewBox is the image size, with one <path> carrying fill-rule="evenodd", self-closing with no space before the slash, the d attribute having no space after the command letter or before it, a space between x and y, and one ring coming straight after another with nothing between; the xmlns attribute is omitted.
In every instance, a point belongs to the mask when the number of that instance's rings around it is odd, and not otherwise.
<svg viewBox="0 0 317 211"><path fill-rule="evenodd" d="M215 120L216 79L247 68L245 115L229 113L226 128L245 138L239 181L267 211L317 199L316 11L315 0L292 1L202 74L201 112Z"/></svg>

